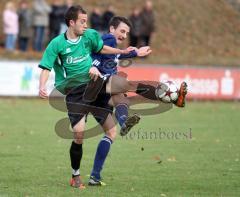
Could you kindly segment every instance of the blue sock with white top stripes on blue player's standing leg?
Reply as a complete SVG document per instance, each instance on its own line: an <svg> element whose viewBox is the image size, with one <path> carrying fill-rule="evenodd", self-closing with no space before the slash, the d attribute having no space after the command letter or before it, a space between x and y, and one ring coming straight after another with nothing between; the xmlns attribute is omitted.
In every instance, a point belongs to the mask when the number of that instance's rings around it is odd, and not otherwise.
<svg viewBox="0 0 240 197"><path fill-rule="evenodd" d="M98 144L97 152L94 159L93 170L91 173L91 176L94 176L98 180L101 179L100 172L110 150L111 144L112 140L107 136L104 136Z"/></svg>

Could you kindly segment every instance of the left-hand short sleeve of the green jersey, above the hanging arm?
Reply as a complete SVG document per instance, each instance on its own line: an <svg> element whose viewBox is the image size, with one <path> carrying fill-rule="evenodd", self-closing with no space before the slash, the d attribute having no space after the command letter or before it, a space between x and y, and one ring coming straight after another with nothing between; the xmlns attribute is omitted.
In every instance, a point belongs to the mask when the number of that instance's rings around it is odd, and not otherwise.
<svg viewBox="0 0 240 197"><path fill-rule="evenodd" d="M46 50L44 51L43 57L38 67L51 71L57 57L58 57L58 45L56 40L52 40L52 42L49 43Z"/></svg>

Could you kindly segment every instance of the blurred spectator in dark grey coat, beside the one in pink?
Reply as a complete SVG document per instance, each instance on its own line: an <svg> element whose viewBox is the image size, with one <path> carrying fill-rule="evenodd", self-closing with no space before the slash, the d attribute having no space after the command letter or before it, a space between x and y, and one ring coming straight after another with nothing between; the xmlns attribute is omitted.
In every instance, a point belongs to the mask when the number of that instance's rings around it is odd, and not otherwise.
<svg viewBox="0 0 240 197"><path fill-rule="evenodd" d="M20 51L26 51L28 48L29 39L32 35L32 12L26 0L20 1L20 6L18 9L18 19L19 19L18 45Z"/></svg>

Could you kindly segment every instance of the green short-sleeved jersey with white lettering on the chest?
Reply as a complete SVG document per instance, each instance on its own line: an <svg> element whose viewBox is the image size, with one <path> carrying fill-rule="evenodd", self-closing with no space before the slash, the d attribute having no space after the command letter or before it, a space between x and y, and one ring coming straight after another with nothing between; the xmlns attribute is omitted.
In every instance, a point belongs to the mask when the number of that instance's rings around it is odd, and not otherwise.
<svg viewBox="0 0 240 197"><path fill-rule="evenodd" d="M63 93L65 88L76 87L90 81L91 53L103 48L97 31L88 29L77 41L67 39L66 34L54 38L47 46L39 67L55 71L55 87Z"/></svg>

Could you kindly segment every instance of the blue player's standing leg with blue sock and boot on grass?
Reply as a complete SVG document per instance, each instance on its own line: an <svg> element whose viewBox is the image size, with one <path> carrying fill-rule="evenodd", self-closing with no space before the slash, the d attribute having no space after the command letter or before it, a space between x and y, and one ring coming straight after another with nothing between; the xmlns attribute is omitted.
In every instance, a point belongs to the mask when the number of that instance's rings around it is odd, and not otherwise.
<svg viewBox="0 0 240 197"><path fill-rule="evenodd" d="M91 172L90 180L88 185L90 186L102 186L104 183L101 181L101 171L103 164L107 158L108 152L111 148L111 145L117 135L117 127L114 123L113 117L111 114L108 114L107 119L102 125L105 136L101 139L98 144L97 152L94 159L93 169Z"/></svg>

